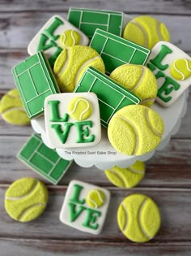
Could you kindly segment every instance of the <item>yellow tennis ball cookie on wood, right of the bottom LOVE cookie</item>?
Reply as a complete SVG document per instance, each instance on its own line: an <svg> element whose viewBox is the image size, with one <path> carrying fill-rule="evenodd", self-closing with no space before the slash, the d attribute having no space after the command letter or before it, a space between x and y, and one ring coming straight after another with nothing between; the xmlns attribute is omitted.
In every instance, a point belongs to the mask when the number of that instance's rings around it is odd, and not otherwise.
<svg viewBox="0 0 191 256"><path fill-rule="evenodd" d="M150 197L131 194L125 197L117 210L117 223L129 240L150 241L160 228L159 208Z"/></svg>

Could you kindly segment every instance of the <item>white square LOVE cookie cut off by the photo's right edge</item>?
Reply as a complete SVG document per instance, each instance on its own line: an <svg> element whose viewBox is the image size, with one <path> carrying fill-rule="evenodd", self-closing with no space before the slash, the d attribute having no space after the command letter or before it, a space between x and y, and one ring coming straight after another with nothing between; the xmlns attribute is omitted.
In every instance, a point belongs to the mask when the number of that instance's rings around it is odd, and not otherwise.
<svg viewBox="0 0 191 256"><path fill-rule="evenodd" d="M172 106L191 85L191 58L167 41L159 41L153 47L146 66L155 74L156 102L162 106Z"/></svg>

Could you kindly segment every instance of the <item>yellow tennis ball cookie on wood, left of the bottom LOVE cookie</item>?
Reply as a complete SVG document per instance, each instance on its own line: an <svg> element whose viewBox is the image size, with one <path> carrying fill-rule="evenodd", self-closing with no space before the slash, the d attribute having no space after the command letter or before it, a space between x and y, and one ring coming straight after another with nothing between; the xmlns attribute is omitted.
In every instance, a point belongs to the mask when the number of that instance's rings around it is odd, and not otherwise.
<svg viewBox="0 0 191 256"><path fill-rule="evenodd" d="M6 190L5 208L12 219L28 222L43 213L48 202L48 190L34 178L16 180Z"/></svg>

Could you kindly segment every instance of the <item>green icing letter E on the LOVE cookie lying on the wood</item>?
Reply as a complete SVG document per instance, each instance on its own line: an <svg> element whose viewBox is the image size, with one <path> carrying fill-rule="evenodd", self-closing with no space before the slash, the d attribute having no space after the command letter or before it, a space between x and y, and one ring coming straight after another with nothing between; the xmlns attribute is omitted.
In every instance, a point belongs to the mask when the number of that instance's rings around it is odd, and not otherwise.
<svg viewBox="0 0 191 256"><path fill-rule="evenodd" d="M98 223L96 223L97 217L100 217L101 213L98 210L87 208L87 218L83 222L83 227L97 229Z"/></svg>

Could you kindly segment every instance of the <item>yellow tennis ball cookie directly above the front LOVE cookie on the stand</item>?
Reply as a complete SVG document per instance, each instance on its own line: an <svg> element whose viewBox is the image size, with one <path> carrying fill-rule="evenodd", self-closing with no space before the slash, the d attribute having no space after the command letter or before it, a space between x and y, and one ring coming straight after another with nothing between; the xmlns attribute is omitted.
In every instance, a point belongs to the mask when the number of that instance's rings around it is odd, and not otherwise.
<svg viewBox="0 0 191 256"><path fill-rule="evenodd" d="M75 85L89 66L105 72L103 60L90 46L71 46L69 49L62 50L53 67L62 92L73 92Z"/></svg>

